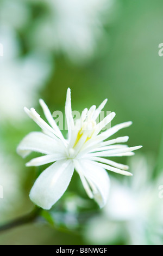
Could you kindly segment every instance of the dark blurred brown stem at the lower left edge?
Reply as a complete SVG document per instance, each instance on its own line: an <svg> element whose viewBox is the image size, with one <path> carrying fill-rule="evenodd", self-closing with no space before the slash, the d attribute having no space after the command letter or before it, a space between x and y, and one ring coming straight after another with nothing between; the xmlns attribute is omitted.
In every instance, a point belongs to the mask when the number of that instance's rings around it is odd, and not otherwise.
<svg viewBox="0 0 163 256"><path fill-rule="evenodd" d="M1 225L0 231L9 230L9 229L18 227L23 224L32 223L32 222L36 221L36 219L37 219L37 217L39 217L39 213L41 211L42 211L41 208L35 207L35 209L32 212L28 213L27 215L17 218L14 221L11 221L7 224Z"/></svg>

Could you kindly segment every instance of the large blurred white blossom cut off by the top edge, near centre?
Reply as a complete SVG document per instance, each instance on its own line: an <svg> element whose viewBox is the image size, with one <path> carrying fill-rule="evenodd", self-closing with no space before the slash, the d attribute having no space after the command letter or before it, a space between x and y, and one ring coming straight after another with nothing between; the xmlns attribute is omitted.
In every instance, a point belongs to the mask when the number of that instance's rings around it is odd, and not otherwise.
<svg viewBox="0 0 163 256"><path fill-rule="evenodd" d="M96 49L98 39L105 34L102 16L114 1L43 2L47 5L47 14L36 22L31 37L36 47L64 52L76 62L89 58Z"/></svg>

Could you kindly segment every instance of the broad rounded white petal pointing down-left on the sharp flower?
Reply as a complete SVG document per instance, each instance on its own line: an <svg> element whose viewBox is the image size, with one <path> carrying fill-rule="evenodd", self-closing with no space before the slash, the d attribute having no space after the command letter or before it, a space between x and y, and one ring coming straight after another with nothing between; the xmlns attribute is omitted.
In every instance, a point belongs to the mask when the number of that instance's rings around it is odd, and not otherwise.
<svg viewBox="0 0 163 256"><path fill-rule="evenodd" d="M30 199L43 209L51 209L67 189L73 171L71 160L58 160L37 178L30 190Z"/></svg>

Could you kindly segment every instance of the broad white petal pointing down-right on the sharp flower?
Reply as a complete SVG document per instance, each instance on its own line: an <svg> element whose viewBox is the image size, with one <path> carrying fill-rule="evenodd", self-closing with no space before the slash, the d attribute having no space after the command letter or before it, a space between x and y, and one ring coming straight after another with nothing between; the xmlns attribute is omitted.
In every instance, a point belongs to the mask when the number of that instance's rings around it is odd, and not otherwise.
<svg viewBox="0 0 163 256"><path fill-rule="evenodd" d="M104 168L97 166L95 162L87 159L80 160L79 164L82 168L83 175L92 189L93 198L100 207L103 207L108 199L110 187L108 173Z"/></svg>

